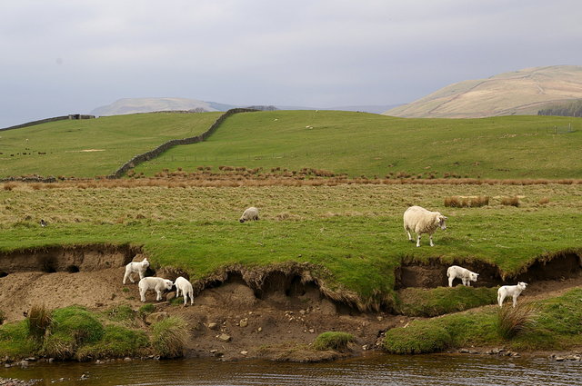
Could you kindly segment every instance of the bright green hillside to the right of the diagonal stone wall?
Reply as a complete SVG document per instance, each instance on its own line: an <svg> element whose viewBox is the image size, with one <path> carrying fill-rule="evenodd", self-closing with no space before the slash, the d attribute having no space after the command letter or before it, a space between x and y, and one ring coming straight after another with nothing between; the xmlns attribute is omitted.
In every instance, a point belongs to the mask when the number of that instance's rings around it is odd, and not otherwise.
<svg viewBox="0 0 582 386"><path fill-rule="evenodd" d="M572 124L572 133L554 126ZM406 119L276 111L236 114L202 144L177 146L135 172L199 165L482 178L580 178L582 120L553 116ZM556 134L557 133L557 134Z"/></svg>

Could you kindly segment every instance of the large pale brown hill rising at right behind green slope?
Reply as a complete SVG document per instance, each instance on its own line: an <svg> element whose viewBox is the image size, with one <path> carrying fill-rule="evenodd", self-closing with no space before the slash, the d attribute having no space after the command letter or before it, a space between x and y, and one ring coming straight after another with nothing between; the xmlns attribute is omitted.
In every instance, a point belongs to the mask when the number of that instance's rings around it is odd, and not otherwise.
<svg viewBox="0 0 582 386"><path fill-rule="evenodd" d="M577 98L582 98L582 66L553 65L451 84L384 114L406 118L537 114L547 104Z"/></svg>

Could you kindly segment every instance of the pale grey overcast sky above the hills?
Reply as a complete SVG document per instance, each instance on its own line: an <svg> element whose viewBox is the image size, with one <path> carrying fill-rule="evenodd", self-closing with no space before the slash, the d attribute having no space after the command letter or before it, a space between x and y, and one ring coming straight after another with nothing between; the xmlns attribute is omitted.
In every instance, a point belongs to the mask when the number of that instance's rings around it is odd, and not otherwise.
<svg viewBox="0 0 582 386"><path fill-rule="evenodd" d="M130 97L404 104L582 64L580 0L17 0L0 5L0 127Z"/></svg>

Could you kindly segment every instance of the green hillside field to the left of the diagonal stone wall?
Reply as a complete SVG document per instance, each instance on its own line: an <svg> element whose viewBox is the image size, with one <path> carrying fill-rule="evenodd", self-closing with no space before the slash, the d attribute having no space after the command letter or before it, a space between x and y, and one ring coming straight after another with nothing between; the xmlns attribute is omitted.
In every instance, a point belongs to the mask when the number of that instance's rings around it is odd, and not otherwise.
<svg viewBox="0 0 582 386"><path fill-rule="evenodd" d="M220 114L105 116L0 131L0 178L107 175L138 153L203 133Z"/></svg>

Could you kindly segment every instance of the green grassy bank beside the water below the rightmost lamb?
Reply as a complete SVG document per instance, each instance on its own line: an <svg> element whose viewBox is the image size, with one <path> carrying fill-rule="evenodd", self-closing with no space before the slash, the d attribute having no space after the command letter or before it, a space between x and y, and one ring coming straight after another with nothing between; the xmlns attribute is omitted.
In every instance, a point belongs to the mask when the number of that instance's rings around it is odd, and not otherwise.
<svg viewBox="0 0 582 386"><path fill-rule="evenodd" d="M582 289L535 304L538 312L528 328L505 338L498 330L498 307L490 306L389 330L383 347L392 353L420 353L499 344L515 350L567 350L582 343Z"/></svg>

